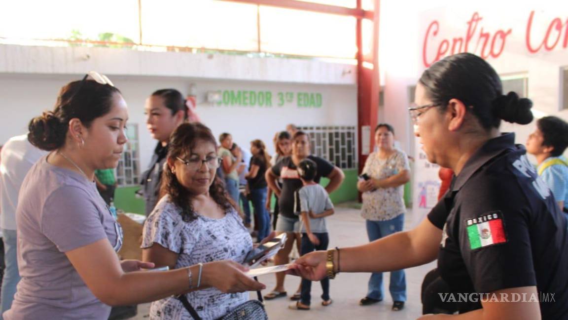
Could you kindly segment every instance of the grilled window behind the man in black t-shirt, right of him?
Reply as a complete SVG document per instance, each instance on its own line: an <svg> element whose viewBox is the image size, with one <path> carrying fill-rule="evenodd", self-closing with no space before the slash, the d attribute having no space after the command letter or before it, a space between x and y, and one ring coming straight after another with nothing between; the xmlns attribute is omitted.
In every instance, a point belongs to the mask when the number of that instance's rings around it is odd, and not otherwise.
<svg viewBox="0 0 568 320"><path fill-rule="evenodd" d="M341 169L357 169L355 126L301 126L310 135L312 154L324 158Z"/></svg>

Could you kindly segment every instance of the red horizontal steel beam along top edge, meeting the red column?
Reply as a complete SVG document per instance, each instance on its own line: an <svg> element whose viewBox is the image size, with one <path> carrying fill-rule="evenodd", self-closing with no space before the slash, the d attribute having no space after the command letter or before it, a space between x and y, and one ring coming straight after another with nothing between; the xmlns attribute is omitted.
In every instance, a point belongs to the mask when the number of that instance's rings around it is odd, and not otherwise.
<svg viewBox="0 0 568 320"><path fill-rule="evenodd" d="M373 11L367 11L358 8L347 8L341 6L324 5L322 3L304 2L298 0L219 0L239 3L250 3L253 5L280 7L286 9L296 9L304 11L313 11L317 13L348 15L358 19L374 19Z"/></svg>

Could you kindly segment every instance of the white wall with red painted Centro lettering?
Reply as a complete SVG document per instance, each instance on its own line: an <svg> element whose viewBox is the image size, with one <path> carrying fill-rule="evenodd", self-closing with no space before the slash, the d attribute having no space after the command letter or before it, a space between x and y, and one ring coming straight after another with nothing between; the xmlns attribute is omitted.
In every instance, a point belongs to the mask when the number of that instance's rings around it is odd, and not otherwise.
<svg viewBox="0 0 568 320"><path fill-rule="evenodd" d="M525 44L527 22L531 11L535 11L532 26L532 45L537 46L554 18L562 22L559 44L552 51L540 50L531 54ZM398 130L398 140L405 151L414 154L414 138L406 108L408 107L409 86L415 85L425 69L422 61L424 36L432 20L438 20L440 28L433 41L428 43L429 60L436 55L442 39L465 37L467 22L478 12L482 17L477 32L471 40L470 52L479 55L482 43L478 41L479 32L493 35L497 30L507 31L504 52L498 58L488 58L488 62L500 75L527 73L529 77L528 97L534 108L545 114L568 120L568 112L559 111L560 81L559 72L568 66L568 48L563 47L568 36L568 2L542 0L534 1L383 1L381 2L380 64L385 72L384 118L379 121L390 122ZM556 31L553 29L554 39ZM524 143L528 133L534 130L531 125L510 125L504 123L502 131L517 133L517 143Z"/></svg>

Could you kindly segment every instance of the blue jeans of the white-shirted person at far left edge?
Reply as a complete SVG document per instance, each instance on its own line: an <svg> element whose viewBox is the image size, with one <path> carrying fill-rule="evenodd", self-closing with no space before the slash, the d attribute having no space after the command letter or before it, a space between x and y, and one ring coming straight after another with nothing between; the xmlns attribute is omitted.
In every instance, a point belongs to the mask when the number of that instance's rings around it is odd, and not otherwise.
<svg viewBox="0 0 568 320"><path fill-rule="evenodd" d="M6 269L4 270L4 279L2 280L2 292L0 293L0 319L2 313L9 310L14 300L16 286L20 282L20 274L18 273L18 255L16 253L16 236L15 230L2 229L4 237L4 261Z"/></svg>

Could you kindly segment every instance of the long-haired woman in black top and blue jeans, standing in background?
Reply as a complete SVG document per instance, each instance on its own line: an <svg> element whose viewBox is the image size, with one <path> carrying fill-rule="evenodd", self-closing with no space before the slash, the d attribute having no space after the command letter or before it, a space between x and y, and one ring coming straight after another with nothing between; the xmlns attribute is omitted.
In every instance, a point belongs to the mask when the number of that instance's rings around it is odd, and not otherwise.
<svg viewBox="0 0 568 320"><path fill-rule="evenodd" d="M270 155L266 152L264 142L258 139L250 142L250 153L252 153L252 158L250 158L249 172L245 178L247 178L247 190L258 223L257 239L260 240L270 233L270 215L266 210L268 184L264 178L266 170L270 167Z"/></svg>

